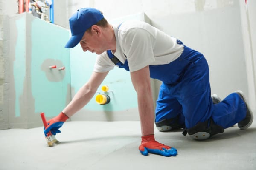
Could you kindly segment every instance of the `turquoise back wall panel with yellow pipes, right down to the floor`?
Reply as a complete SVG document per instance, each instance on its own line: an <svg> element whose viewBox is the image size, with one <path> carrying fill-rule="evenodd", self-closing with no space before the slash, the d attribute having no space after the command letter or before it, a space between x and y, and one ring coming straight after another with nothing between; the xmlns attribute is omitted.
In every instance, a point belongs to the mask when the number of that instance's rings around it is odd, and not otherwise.
<svg viewBox="0 0 256 170"><path fill-rule="evenodd" d="M133 14L127 17L118 18L109 21L113 25L122 23L125 20L141 20L150 22L144 13ZM89 79L97 55L90 52L83 52L80 45L70 49L71 65L71 85L72 96L76 94L79 88ZM107 85L110 92L110 103L99 105L95 97L103 93L101 87ZM137 94L133 88L130 73L122 68L114 68L102 82L98 89L99 93L93 96L93 99L72 117L72 120L138 120Z"/></svg>

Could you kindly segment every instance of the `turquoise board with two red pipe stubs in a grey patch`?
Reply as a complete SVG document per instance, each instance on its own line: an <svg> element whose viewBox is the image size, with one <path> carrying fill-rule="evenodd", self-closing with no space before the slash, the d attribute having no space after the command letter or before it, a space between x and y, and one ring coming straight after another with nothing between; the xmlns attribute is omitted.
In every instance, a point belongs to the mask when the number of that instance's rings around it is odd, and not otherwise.
<svg viewBox="0 0 256 170"><path fill-rule="evenodd" d="M35 113L56 116L70 96L69 31L35 19L31 23L31 83ZM56 69L49 66L56 65ZM58 68L65 67L65 70Z"/></svg>

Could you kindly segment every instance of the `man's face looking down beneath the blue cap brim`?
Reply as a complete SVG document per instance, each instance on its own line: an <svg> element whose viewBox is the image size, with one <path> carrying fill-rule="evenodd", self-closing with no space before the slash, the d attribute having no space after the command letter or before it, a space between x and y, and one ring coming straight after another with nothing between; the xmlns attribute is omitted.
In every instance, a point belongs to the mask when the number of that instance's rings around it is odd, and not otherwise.
<svg viewBox="0 0 256 170"><path fill-rule="evenodd" d="M92 53L102 54L105 50L103 50L100 40L100 31L92 29L91 31L85 31L79 43L84 52L88 50Z"/></svg>

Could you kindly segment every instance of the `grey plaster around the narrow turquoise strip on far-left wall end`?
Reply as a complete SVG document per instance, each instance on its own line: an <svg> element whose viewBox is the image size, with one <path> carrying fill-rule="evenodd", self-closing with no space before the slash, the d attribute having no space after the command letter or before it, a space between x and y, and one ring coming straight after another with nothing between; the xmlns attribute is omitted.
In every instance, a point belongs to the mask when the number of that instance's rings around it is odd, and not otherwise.
<svg viewBox="0 0 256 170"><path fill-rule="evenodd" d="M25 13L24 13L25 14ZM27 33L31 32L31 23L32 22L26 22L26 31L25 32L25 70L26 74L23 80L23 93L19 96L18 102L20 105L20 116L17 117L15 115L15 79L14 79L14 62L15 62L15 56L18 56L15 54L15 45L17 44L17 25L16 21L23 17L24 14L17 15L15 17L12 17L10 20L10 30L12 34L10 34L10 48L12 48L10 52L10 68L9 68L9 81L10 81L10 128L32 128L32 127L38 127L38 123L41 122L39 114L35 113L35 99L32 96L31 91L31 37L27 36ZM11 46L12 45L12 46ZM31 114L33 113L33 114Z"/></svg>

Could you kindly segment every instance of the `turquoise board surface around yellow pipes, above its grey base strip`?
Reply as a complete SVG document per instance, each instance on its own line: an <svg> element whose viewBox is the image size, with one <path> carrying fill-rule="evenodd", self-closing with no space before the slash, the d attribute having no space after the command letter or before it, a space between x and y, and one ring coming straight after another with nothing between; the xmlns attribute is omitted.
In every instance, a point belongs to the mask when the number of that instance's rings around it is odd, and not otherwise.
<svg viewBox="0 0 256 170"><path fill-rule="evenodd" d="M144 14L134 14L128 17L111 20L109 23L118 25L125 20L140 20L143 21ZM80 45L70 49L70 67L71 67L71 86L72 96L84 85L90 78L93 72L93 66L96 60L97 54L90 53L89 51L83 52ZM99 105L95 101L95 96L90 102L84 106L84 109L90 111L125 111L129 108L137 108L137 94L133 88L130 72L123 68L114 68L108 73L108 76L99 86L98 91L102 94L101 87L108 85L109 91L105 93L110 96L111 102L107 105Z"/></svg>

